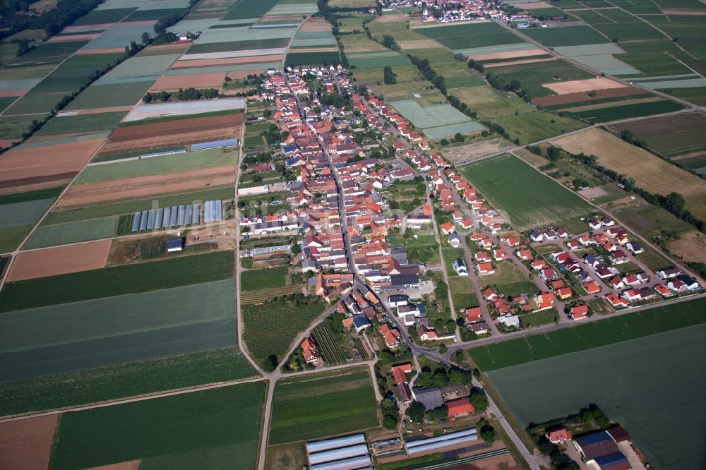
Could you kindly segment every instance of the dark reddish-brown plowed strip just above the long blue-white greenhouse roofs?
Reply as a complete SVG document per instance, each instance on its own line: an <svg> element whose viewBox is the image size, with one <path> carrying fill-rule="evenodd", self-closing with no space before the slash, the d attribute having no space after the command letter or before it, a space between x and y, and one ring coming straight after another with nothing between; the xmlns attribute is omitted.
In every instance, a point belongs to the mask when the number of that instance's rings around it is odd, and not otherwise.
<svg viewBox="0 0 706 470"><path fill-rule="evenodd" d="M119 127L110 135L100 155L237 138L242 125L243 114L239 113Z"/></svg>

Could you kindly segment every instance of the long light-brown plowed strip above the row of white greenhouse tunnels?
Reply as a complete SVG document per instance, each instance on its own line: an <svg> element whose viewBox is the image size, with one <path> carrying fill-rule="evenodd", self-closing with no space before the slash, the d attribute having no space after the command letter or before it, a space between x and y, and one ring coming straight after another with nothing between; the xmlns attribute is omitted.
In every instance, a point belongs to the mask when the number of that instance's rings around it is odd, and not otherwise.
<svg viewBox="0 0 706 470"><path fill-rule="evenodd" d="M233 183L235 183L233 165L155 176L138 176L137 178L71 186L64 197L59 199L56 207L76 207L116 200L142 199L153 195L228 186Z"/></svg>

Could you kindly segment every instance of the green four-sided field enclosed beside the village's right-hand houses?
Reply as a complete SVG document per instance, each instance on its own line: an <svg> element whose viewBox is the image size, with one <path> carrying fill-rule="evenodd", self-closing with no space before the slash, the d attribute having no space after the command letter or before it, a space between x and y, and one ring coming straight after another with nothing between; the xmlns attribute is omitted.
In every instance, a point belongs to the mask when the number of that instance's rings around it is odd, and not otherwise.
<svg viewBox="0 0 706 470"><path fill-rule="evenodd" d="M579 233L572 228L585 228L579 217L591 206L517 157L501 155L472 163L463 173L515 229L560 224Z"/></svg>

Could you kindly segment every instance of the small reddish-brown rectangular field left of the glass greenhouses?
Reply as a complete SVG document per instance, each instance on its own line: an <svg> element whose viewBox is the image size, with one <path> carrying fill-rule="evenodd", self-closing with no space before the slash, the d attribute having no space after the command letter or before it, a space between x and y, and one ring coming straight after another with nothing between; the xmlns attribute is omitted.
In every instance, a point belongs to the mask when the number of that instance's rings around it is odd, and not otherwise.
<svg viewBox="0 0 706 470"><path fill-rule="evenodd" d="M16 256L9 282L97 270L105 266L111 242L92 241L46 250L24 251Z"/></svg>

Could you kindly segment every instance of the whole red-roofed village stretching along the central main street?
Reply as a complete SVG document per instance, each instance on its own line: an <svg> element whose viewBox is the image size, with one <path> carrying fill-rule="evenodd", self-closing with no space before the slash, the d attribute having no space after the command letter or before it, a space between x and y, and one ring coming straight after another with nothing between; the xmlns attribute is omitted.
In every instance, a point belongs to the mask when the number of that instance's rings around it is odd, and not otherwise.
<svg viewBox="0 0 706 470"><path fill-rule="evenodd" d="M342 66L270 71L262 88L285 137L272 161L246 155L258 160L246 172L279 162L296 177L239 188L241 200L259 204L241 205L242 235L301 235L293 262L308 278L309 295L330 306L326 323L351 335L348 362L378 355L378 385L394 390L401 412L421 405L434 422L443 409L436 423L444 426L476 409L472 378L420 367L409 347L443 352L702 289L676 267L650 271L635 257L640 243L602 214L586 217L580 234L563 227L515 231L411 123L358 90ZM289 210L278 212L282 203ZM329 343L313 330L289 370L340 363ZM426 377L410 384L414 370Z"/></svg>

